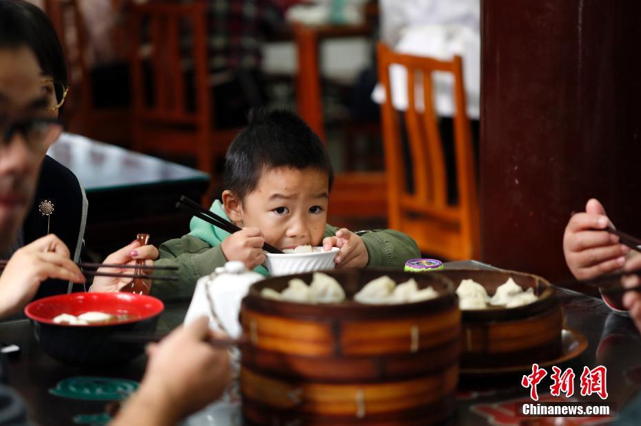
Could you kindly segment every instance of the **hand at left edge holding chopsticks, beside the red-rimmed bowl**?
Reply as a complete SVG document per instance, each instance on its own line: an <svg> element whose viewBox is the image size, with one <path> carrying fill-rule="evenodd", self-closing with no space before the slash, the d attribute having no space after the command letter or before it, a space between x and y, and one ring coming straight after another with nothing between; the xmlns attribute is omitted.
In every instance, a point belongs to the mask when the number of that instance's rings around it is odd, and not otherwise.
<svg viewBox="0 0 641 426"><path fill-rule="evenodd" d="M41 282L49 278L85 281L65 243L53 234L19 248L9 259L0 275L0 316L21 310L33 299Z"/></svg>

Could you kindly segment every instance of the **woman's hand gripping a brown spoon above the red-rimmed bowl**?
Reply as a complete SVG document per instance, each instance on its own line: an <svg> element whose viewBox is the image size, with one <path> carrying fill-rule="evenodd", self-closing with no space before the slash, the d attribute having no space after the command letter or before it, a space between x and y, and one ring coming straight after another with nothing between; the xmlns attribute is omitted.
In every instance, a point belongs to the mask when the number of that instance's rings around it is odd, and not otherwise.
<svg viewBox="0 0 641 426"><path fill-rule="evenodd" d="M119 251L114 251L114 253L108 255L103 263L134 265L136 260L139 259L145 260L145 265L153 265L154 260L158 259L158 249L152 245L141 246L138 241L134 241ZM132 268L98 268L98 270L106 273L134 273ZM148 274L149 270L143 269L142 272ZM131 278L95 277L89 291L116 292L130 284L131 281ZM145 279L143 282L147 288L151 288L152 282L150 279Z"/></svg>

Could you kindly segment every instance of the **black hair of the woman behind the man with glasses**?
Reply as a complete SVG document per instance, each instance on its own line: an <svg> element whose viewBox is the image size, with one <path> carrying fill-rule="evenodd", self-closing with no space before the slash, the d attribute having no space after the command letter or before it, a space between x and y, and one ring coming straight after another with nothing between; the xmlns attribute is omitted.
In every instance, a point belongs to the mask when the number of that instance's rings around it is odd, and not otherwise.
<svg viewBox="0 0 641 426"><path fill-rule="evenodd" d="M0 0L0 48L28 47L44 74L68 85L62 46L47 14L23 0Z"/></svg>

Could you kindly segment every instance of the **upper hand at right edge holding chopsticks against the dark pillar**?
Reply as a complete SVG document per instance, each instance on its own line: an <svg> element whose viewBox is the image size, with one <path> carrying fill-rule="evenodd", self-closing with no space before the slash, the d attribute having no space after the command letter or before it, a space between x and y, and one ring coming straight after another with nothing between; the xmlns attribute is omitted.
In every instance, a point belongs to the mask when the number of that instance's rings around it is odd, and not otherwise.
<svg viewBox="0 0 641 426"><path fill-rule="evenodd" d="M573 215L563 235L563 254L578 279L589 279L621 268L630 249L618 244L619 237L600 230L609 224L605 209L592 198L585 213Z"/></svg>

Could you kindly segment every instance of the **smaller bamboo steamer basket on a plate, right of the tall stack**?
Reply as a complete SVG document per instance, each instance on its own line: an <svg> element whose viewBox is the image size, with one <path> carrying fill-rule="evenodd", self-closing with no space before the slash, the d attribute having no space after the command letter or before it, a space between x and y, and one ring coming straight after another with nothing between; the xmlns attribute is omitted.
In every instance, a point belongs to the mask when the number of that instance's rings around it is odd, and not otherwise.
<svg viewBox="0 0 641 426"><path fill-rule="evenodd" d="M474 279L494 295L512 278L524 290L534 289L538 300L518 308L462 310L460 368L507 368L556 359L562 352L563 313L556 289L544 278L513 270L446 269L438 271L457 288Z"/></svg>

